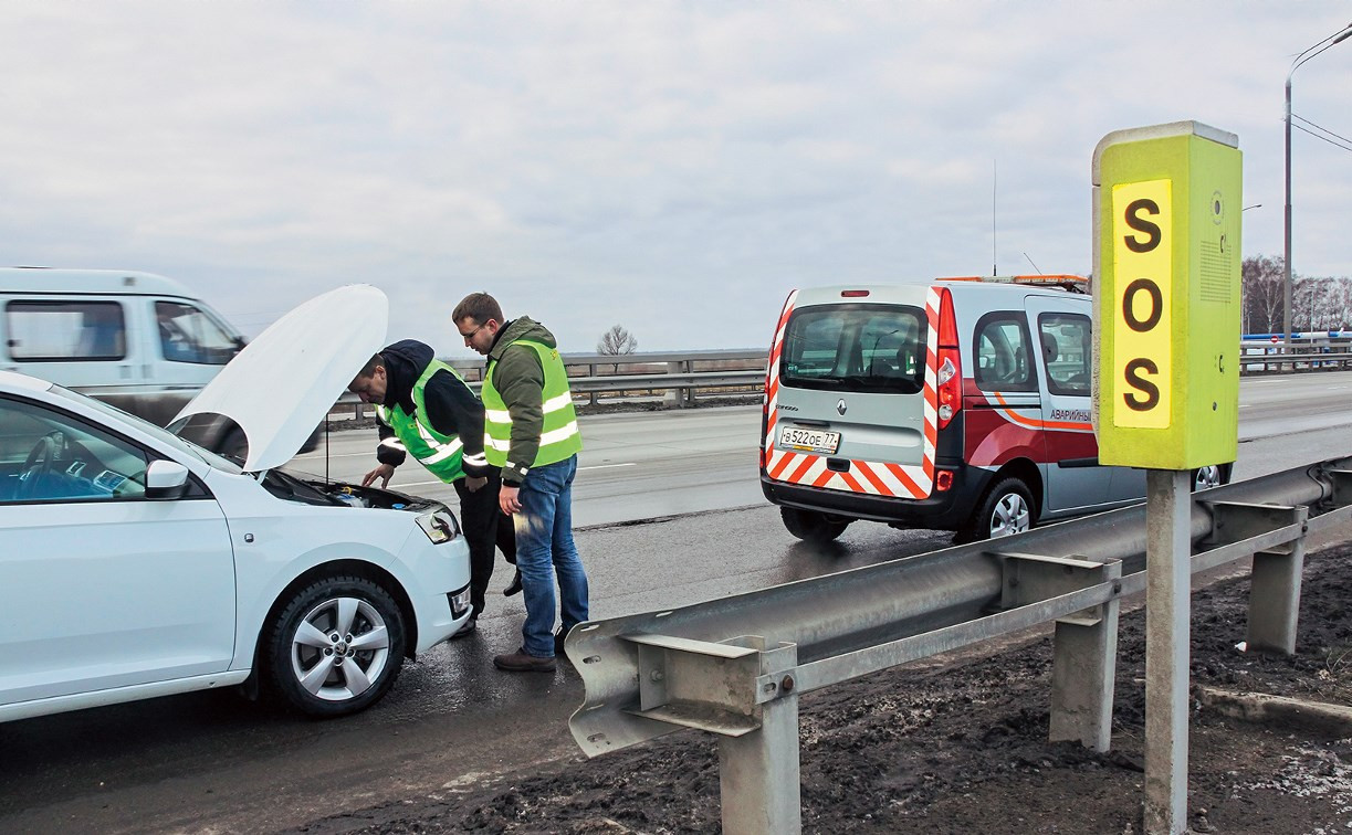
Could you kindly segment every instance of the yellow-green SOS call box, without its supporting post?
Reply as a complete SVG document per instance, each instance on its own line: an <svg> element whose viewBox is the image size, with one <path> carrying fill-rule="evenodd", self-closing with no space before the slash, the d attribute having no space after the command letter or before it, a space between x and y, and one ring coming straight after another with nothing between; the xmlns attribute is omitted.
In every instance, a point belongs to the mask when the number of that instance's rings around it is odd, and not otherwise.
<svg viewBox="0 0 1352 835"><path fill-rule="evenodd" d="M1197 122L1094 150L1099 462L1234 461L1240 400L1238 136Z"/></svg>

